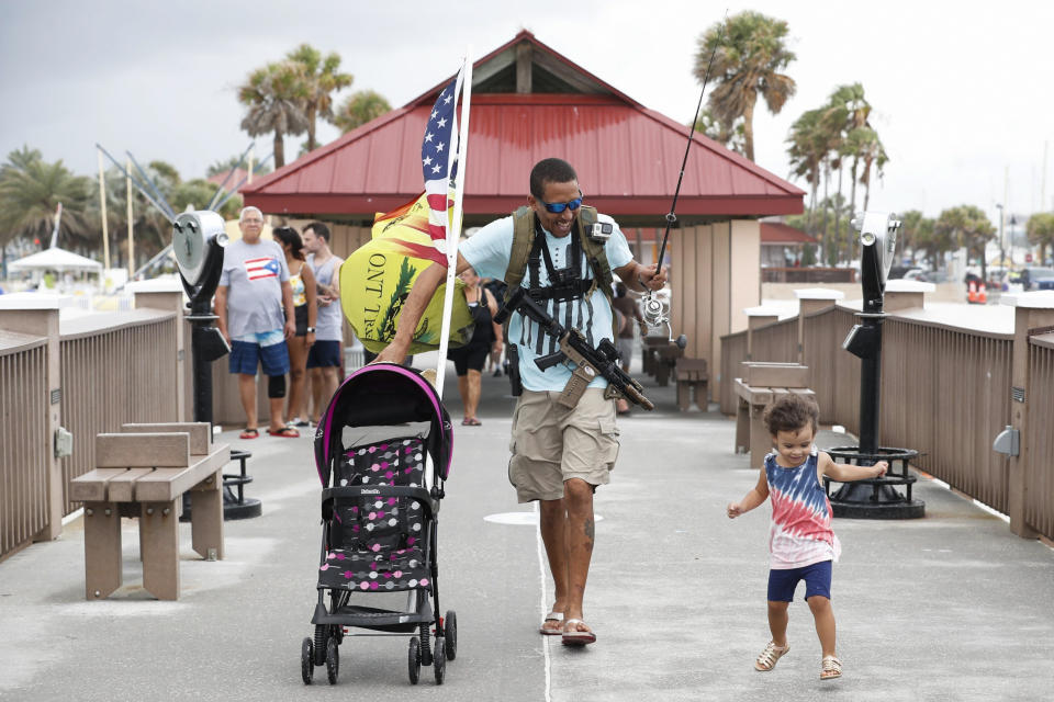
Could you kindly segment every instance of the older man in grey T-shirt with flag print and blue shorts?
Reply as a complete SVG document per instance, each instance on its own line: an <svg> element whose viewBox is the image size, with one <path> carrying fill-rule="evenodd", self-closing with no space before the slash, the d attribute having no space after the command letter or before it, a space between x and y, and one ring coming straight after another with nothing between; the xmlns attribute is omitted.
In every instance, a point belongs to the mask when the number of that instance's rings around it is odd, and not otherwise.
<svg viewBox="0 0 1054 702"><path fill-rule="evenodd" d="M246 207L238 217L242 239L223 251L223 273L216 288L216 325L231 344L231 372L238 376L238 395L245 409L242 439L256 439L256 371L268 376L267 395L271 417L267 433L295 438L300 433L285 426L282 404L289 348L285 339L296 333L293 319L293 288L282 248L260 239L264 215Z"/></svg>

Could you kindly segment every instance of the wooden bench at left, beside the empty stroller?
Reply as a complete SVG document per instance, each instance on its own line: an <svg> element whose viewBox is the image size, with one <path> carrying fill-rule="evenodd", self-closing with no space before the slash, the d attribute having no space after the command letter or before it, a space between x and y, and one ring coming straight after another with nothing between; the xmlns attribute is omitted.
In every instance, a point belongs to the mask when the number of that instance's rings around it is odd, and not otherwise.
<svg viewBox="0 0 1054 702"><path fill-rule="evenodd" d="M223 553L223 477L227 444L212 444L210 426L124 424L96 437L94 471L70 480L85 503L85 597L109 597L122 584L121 518L139 520L143 587L159 600L179 599L179 516L193 495L193 550L213 561Z"/></svg>

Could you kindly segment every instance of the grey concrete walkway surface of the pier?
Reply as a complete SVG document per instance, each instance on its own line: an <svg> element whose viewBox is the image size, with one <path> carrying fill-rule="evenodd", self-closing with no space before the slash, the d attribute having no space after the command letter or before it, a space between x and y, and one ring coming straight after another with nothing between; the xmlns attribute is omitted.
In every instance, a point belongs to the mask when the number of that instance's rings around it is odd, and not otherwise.
<svg viewBox="0 0 1054 702"><path fill-rule="evenodd" d="M756 672L769 641L770 509L725 516L756 471L733 453L731 419L679 412L672 387L644 386L658 408L619 418L618 464L596 494L592 646L567 648L537 633L551 581L537 511L516 503L507 479L506 380L484 376L483 424L462 427L451 369L455 462L439 514L439 597L441 610L457 611L459 643L444 686L425 668L410 686L404 637L346 638L338 683L330 688L319 668L315 684L303 684L300 643L312 633L322 533L312 441L307 432L242 441L232 427L221 441L253 452L247 494L264 514L226 522L218 562L200 559L189 524L180 526L179 601L139 587L132 520L123 525L125 586L105 601L83 598L80 519L0 564L0 699L1051 699L1054 551L926 478L916 486L923 519L834 522L843 677L819 680L804 586L790 607L789 654ZM817 443L846 439L821 431Z"/></svg>

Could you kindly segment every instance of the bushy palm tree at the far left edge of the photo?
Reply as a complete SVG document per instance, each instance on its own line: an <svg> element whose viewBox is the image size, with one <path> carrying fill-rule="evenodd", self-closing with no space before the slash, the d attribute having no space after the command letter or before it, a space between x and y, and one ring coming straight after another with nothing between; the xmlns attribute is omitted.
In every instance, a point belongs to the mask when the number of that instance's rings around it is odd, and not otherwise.
<svg viewBox="0 0 1054 702"><path fill-rule="evenodd" d="M55 210L63 203L59 237L81 250L92 244L85 210L91 197L91 181L74 176L63 162L44 162L37 149L23 146L11 151L0 167L0 247L19 237L35 237L43 244L55 226Z"/></svg>

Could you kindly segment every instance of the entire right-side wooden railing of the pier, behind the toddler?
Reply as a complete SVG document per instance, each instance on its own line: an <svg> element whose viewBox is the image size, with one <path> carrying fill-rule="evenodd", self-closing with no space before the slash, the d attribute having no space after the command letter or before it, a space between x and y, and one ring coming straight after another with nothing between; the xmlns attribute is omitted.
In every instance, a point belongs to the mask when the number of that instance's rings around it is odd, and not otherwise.
<svg viewBox="0 0 1054 702"><path fill-rule="evenodd" d="M884 446L921 452L917 467L1011 514L1011 520L1022 522L1011 524L1016 533L1038 531L1054 539L1054 333L1023 336L1029 369L1020 371L1028 377L1023 390L1028 421L1021 444L1027 451L1021 484L1014 487L1013 458L995 452L993 440L1016 416L1014 324L1036 329L1033 322L1022 321L1022 310L1003 312L1001 326L956 326L921 309L886 317L879 440ZM833 304L793 320L721 337L721 410L735 411L726 387L739 375L739 363L748 360L748 346L751 361L798 360L788 355L789 322L800 325L800 362L811 370L810 387L821 422L859 433L860 360L841 348L855 324L854 310ZM1023 495L1023 512L1018 514L1011 496L1014 489Z"/></svg>

